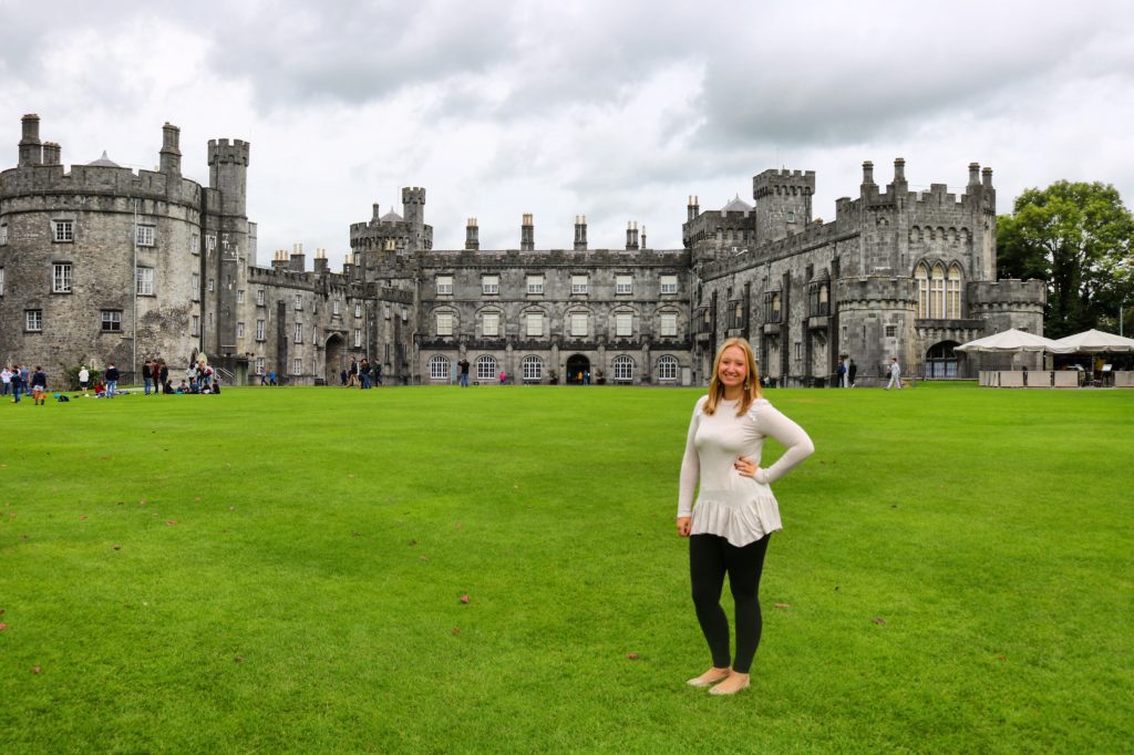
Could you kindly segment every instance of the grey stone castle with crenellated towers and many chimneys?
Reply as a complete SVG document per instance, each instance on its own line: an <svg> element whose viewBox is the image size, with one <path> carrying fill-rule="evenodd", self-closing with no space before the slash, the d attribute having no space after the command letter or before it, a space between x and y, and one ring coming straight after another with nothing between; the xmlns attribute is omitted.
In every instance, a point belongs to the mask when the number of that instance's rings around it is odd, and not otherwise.
<svg viewBox="0 0 1134 755"><path fill-rule="evenodd" d="M465 358L479 381L689 385L739 336L779 384L827 384L840 355L871 384L890 357L957 376L972 365L954 346L1042 333L1042 283L996 279L996 190L976 163L957 196L909 190L900 159L880 188L865 162L826 223L814 172L767 170L754 205L702 212L691 196L680 249L649 248L633 222L625 248L592 249L584 215L570 249L538 249L530 214L517 249L481 249L475 218L463 249L434 249L425 189L405 188L401 214L375 204L350 226L332 272L298 245L259 266L249 145L210 141L205 187L181 176L179 139L163 126L155 171L105 155L68 171L24 116L18 164L0 172L0 360L129 375L204 351L239 383L321 384L367 357L388 383L443 384Z"/></svg>

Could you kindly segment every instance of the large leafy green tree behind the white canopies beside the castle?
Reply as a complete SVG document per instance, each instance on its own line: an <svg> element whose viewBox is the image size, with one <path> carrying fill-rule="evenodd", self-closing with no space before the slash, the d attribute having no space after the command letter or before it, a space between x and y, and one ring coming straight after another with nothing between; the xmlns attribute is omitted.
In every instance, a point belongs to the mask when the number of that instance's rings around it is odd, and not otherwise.
<svg viewBox="0 0 1134 755"><path fill-rule="evenodd" d="M997 220L1001 278L1047 282L1046 334L1117 325L1134 294L1134 215L1108 184L1056 181L1016 197Z"/></svg>

